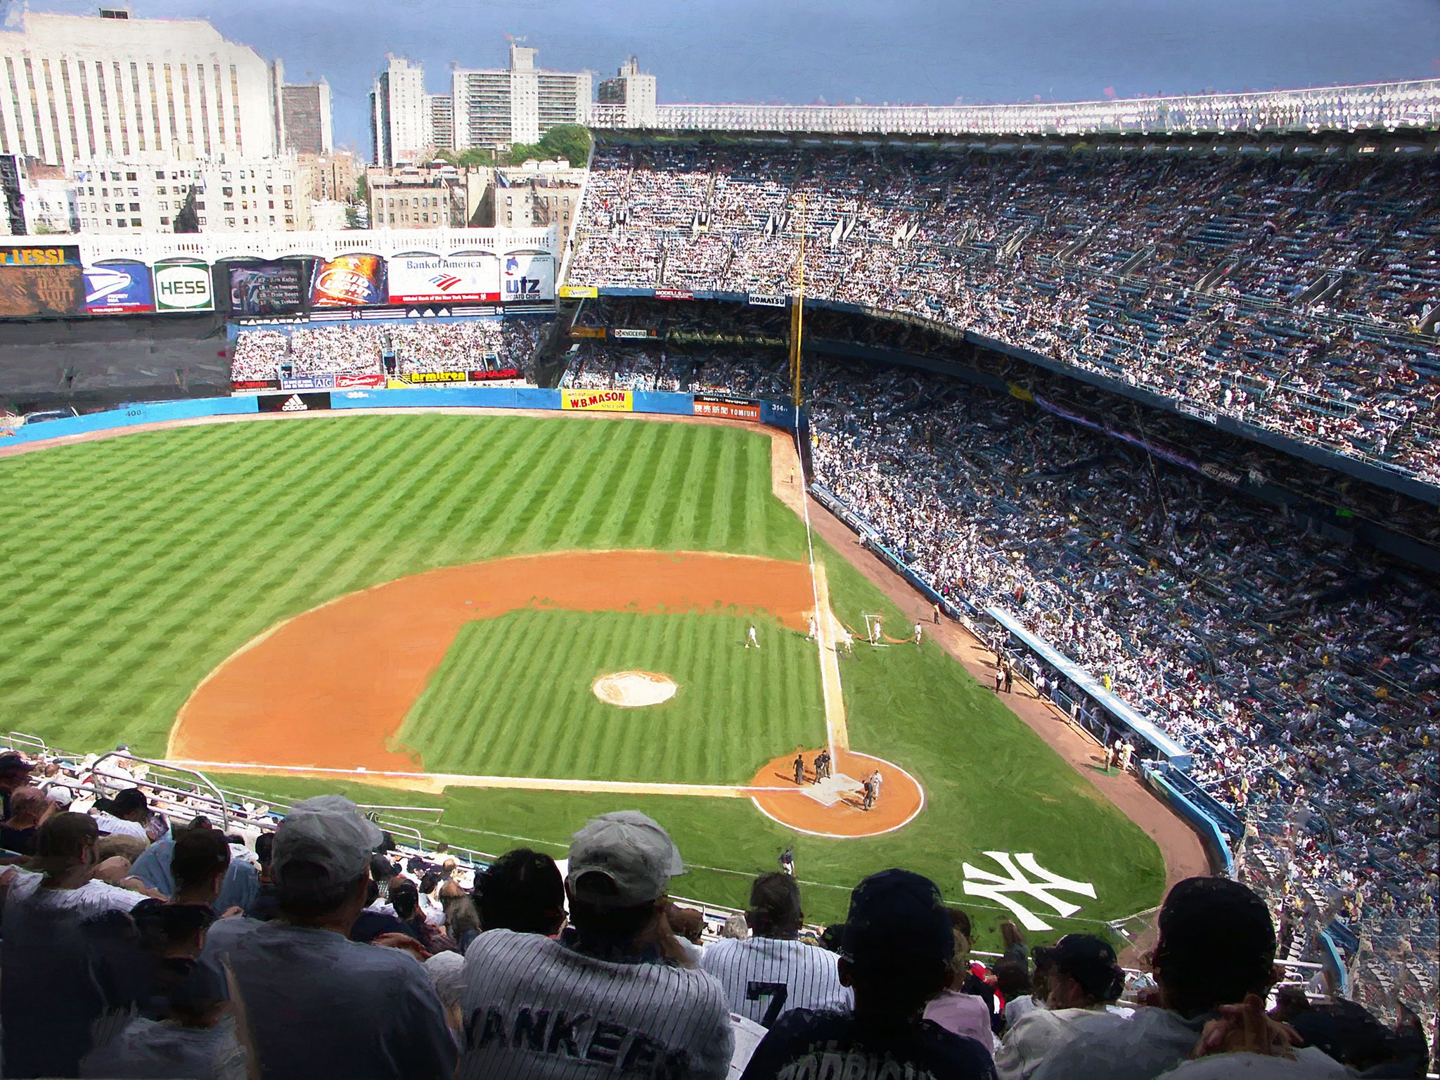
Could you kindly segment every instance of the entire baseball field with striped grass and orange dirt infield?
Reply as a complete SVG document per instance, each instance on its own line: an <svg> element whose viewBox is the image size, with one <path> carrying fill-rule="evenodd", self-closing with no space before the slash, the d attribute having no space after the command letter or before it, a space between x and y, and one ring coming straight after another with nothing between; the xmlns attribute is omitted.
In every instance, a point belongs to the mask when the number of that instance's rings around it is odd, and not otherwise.
<svg viewBox="0 0 1440 1080"><path fill-rule="evenodd" d="M763 431L569 416L3 458L0 711L271 798L444 806L431 835L484 851L559 857L588 815L639 808L690 865L675 891L716 903L793 844L822 922L887 865L939 881L982 943L1017 904L1043 940L1158 903L1155 842L937 644L837 647L904 619L818 539L812 575L780 472ZM605 677L664 700L616 704ZM824 746L884 773L881 816L795 789L783 763Z"/></svg>

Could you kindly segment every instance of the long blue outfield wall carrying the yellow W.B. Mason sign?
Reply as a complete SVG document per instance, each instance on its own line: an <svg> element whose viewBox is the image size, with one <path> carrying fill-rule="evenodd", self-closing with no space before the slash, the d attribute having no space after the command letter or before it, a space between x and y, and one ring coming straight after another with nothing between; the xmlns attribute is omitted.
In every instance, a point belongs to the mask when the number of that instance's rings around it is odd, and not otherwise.
<svg viewBox="0 0 1440 1080"><path fill-rule="evenodd" d="M704 397L704 395L701 395ZM752 402L762 425L793 428L795 409ZM60 420L0 428L0 449L24 442L134 428L202 416L245 416L261 412L325 412L337 409L546 409L556 412L639 412L667 416L711 416L696 412L696 395L652 390L541 390L534 386L420 386L403 390L350 389L320 393L259 393L240 397L196 397L141 402Z"/></svg>

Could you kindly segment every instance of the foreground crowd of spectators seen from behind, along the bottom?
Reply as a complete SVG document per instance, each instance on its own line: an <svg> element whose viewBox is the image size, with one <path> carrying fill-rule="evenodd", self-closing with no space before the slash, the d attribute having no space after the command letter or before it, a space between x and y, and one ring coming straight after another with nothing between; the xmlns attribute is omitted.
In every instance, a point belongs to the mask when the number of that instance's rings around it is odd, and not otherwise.
<svg viewBox="0 0 1440 1080"><path fill-rule="evenodd" d="M793 874L760 874L716 935L638 811L585 822L563 871L520 848L469 873L338 795L190 816L144 773L0 757L7 1076L1338 1080L1430 1057L1414 1012L1387 1028L1283 981L1270 910L1225 878L1169 890L1148 972L1008 922L986 966L907 870L824 932Z"/></svg>

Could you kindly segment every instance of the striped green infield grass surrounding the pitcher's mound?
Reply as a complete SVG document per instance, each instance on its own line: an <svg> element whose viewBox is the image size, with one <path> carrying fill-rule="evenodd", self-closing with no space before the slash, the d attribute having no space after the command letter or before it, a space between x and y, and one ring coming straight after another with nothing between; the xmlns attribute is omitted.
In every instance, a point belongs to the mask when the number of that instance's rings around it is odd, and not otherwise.
<svg viewBox="0 0 1440 1080"><path fill-rule="evenodd" d="M815 644L750 618L521 611L472 622L396 744L426 772L589 780L749 783L772 757L825 743ZM670 701L618 708L596 675L657 671Z"/></svg>

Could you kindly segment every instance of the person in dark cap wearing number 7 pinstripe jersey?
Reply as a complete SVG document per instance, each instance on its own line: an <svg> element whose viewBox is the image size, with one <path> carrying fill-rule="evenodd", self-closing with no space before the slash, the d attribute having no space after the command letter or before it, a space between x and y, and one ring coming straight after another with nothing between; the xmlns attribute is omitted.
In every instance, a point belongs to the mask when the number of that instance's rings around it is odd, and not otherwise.
<svg viewBox="0 0 1440 1080"><path fill-rule="evenodd" d="M750 910L744 913L755 936L716 942L700 960L724 988L732 1012L770 1027L795 1008L851 1007L850 991L840 985L840 958L796 940L804 917L793 877L770 873L755 878Z"/></svg>

